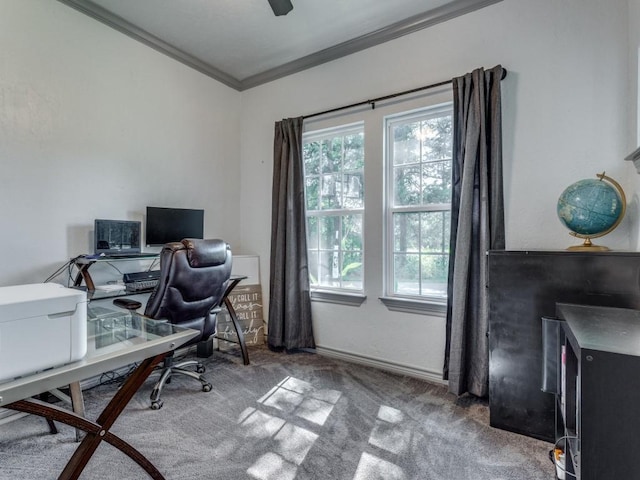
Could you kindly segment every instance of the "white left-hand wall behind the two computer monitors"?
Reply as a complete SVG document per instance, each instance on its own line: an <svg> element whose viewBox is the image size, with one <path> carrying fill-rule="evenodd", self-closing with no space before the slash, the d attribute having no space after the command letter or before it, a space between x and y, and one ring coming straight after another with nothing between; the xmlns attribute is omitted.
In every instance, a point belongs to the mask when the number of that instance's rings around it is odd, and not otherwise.
<svg viewBox="0 0 640 480"><path fill-rule="evenodd" d="M51 0L0 0L0 45L0 285L147 205L204 208L239 245L238 92Z"/></svg>

